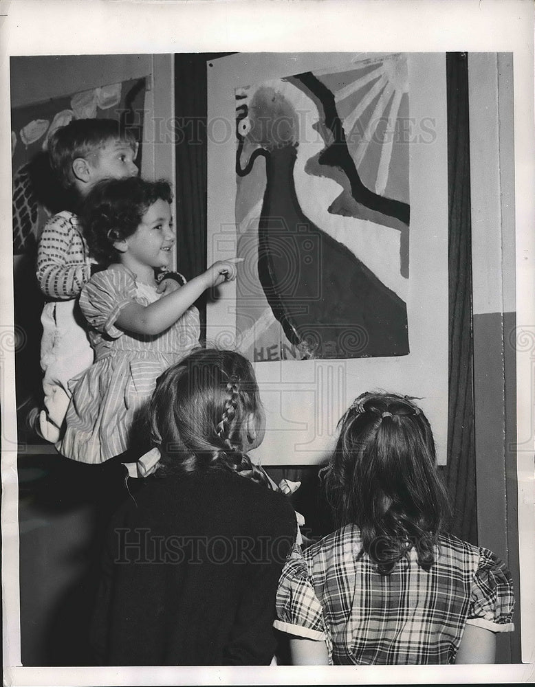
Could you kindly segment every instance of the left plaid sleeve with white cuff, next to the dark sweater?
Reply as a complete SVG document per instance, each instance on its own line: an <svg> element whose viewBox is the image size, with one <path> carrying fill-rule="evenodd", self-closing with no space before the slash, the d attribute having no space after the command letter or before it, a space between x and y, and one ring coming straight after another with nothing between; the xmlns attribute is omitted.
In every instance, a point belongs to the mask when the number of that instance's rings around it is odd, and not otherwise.
<svg viewBox="0 0 535 687"><path fill-rule="evenodd" d="M308 567L298 544L294 544L283 567L276 594L274 627L283 632L329 645L323 608L314 592Z"/></svg>

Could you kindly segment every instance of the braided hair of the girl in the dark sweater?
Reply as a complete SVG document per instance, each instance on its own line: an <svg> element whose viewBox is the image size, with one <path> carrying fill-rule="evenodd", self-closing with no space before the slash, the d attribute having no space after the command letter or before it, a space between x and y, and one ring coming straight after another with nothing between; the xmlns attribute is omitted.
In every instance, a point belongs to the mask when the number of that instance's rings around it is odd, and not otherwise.
<svg viewBox="0 0 535 687"><path fill-rule="evenodd" d="M270 486L247 454L251 416L260 431L261 402L250 362L230 350L190 353L160 376L149 405L162 473L220 469Z"/></svg>

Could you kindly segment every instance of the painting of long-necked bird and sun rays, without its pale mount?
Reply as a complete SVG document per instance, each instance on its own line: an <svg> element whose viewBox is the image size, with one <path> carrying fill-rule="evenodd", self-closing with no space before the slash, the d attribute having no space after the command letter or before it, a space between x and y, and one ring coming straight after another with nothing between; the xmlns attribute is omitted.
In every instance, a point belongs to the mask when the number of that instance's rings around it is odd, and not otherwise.
<svg viewBox="0 0 535 687"><path fill-rule="evenodd" d="M409 353L408 90L402 54L234 89L252 361Z"/></svg>

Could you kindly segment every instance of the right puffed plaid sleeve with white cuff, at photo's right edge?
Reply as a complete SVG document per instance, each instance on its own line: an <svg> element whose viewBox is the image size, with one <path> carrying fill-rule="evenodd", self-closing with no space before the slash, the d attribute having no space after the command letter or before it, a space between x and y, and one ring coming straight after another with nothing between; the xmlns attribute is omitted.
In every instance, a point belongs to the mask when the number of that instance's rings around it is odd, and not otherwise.
<svg viewBox="0 0 535 687"><path fill-rule="evenodd" d="M505 564L492 551L480 548L479 566L472 581L466 622L492 632L512 632L514 594Z"/></svg>

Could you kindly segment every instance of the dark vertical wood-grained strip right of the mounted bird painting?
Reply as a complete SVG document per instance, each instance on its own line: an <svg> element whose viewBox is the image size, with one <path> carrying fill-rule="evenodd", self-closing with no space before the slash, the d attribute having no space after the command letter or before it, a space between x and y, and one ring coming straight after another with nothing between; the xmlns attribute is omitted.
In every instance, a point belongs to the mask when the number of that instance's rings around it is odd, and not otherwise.
<svg viewBox="0 0 535 687"><path fill-rule="evenodd" d="M472 380L472 247L468 54L446 54L448 100L449 398L444 469L450 531L477 544Z"/></svg>

